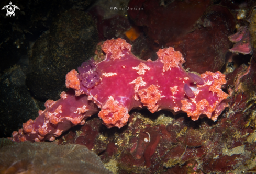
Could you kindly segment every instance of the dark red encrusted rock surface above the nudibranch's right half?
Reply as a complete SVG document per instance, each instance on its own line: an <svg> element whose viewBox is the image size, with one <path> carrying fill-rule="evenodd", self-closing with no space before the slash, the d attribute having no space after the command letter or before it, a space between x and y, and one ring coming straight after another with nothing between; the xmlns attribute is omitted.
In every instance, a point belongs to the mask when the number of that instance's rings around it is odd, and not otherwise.
<svg viewBox="0 0 256 174"><path fill-rule="evenodd" d="M235 28L228 8L210 1L130 1L129 5L143 8L128 10L128 14L143 26L151 49L174 47L184 54L185 69L198 73L216 72L224 65L232 45L227 37Z"/></svg>

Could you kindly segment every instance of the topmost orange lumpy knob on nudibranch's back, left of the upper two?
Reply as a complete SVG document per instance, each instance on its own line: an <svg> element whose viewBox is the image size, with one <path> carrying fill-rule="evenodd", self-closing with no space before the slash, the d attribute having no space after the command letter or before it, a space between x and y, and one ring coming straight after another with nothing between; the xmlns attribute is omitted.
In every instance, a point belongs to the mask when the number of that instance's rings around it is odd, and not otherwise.
<svg viewBox="0 0 256 174"><path fill-rule="evenodd" d="M107 40L103 43L102 51L108 55L112 53L112 59L120 59L123 56L122 50L127 49L131 51L131 45L127 43L124 39L118 38L116 40Z"/></svg>

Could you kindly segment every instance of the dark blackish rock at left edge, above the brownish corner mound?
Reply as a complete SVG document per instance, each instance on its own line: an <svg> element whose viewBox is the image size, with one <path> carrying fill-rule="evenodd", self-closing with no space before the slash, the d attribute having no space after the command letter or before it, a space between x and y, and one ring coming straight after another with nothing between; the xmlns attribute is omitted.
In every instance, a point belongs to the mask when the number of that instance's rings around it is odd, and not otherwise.
<svg viewBox="0 0 256 174"><path fill-rule="evenodd" d="M0 76L0 137L9 137L12 130L38 116L38 105L25 85L26 75L20 65Z"/></svg>

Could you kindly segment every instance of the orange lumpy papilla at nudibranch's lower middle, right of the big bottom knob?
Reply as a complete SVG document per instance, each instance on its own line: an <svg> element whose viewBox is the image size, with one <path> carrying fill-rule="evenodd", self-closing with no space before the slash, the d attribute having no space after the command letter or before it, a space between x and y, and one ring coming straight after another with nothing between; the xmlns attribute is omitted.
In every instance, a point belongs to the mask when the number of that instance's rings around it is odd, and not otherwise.
<svg viewBox="0 0 256 174"><path fill-rule="evenodd" d="M157 102L161 99L161 94L156 86L150 85L147 89L139 90L140 101L147 106L149 111L154 113L158 109Z"/></svg>

